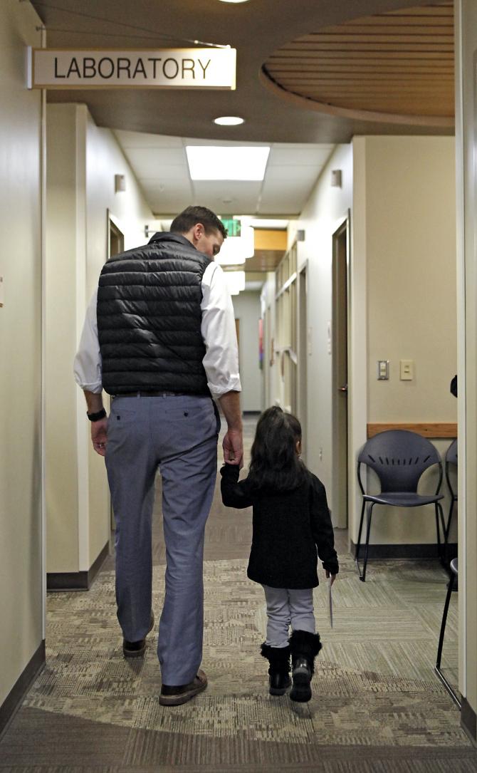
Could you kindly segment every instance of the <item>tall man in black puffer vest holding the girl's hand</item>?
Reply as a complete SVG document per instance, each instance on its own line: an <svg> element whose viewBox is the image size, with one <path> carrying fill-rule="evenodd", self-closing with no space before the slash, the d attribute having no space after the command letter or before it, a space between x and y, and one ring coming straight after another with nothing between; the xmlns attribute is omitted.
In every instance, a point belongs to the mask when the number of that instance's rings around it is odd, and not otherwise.
<svg viewBox="0 0 477 773"><path fill-rule="evenodd" d="M162 478L167 568L157 655L160 703L207 686L202 655L205 522L217 472L218 400L225 461L242 465L241 390L232 301L215 264L226 230L201 206L170 233L107 261L75 359L95 451L105 456L116 519L117 617L125 657L144 654L151 610L154 478ZM102 390L113 395L110 417Z"/></svg>

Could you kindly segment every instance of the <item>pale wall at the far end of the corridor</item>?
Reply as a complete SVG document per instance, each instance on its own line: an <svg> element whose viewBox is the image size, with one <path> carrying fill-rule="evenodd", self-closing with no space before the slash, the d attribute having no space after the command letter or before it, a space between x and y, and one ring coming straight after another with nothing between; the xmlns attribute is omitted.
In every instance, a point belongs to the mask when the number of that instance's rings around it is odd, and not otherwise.
<svg viewBox="0 0 477 773"><path fill-rule="evenodd" d="M242 291L232 295L235 319L240 320L238 363L242 383L242 410L262 410L262 371L259 368L260 294Z"/></svg>

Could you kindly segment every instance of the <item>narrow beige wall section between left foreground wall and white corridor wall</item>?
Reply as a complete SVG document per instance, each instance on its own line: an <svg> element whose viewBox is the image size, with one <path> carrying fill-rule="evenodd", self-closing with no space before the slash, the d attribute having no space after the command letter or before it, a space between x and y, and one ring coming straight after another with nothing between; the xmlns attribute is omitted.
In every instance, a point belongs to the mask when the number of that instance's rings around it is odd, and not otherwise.
<svg viewBox="0 0 477 773"><path fill-rule="evenodd" d="M76 470L76 393L71 358L76 346L74 313L77 264L84 264L84 188L78 175L84 159L80 110L76 105L47 108L46 173L46 555L49 572L80 570L78 479ZM84 163L84 161L83 161ZM80 220L80 222L78 222Z"/></svg>

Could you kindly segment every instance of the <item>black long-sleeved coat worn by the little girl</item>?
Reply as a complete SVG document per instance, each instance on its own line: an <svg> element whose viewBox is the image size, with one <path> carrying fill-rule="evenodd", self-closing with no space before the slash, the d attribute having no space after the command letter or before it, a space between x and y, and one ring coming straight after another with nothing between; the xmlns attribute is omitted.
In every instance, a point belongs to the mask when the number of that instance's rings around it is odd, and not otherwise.
<svg viewBox="0 0 477 773"><path fill-rule="evenodd" d="M247 576L262 585L292 589L316 587L316 550L323 568L337 574L333 526L323 483L306 471L293 491L253 489L248 478L238 482L237 465L221 469L222 502L253 507L253 536Z"/></svg>

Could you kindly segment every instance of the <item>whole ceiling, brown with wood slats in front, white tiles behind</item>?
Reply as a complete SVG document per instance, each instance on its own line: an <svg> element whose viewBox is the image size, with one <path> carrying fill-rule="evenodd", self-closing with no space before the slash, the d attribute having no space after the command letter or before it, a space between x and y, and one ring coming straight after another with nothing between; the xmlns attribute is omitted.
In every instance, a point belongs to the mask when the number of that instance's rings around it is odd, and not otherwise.
<svg viewBox="0 0 477 773"><path fill-rule="evenodd" d="M188 179L185 138L271 144L262 185L237 183L224 192L223 182L208 183L208 206L293 215L333 145L354 135L453 133L450 0L31 2L49 48L174 48L201 41L237 49L234 91L48 92L51 102L86 104L96 124L117 130L156 213L174 213L184 200L203 196L202 184ZM245 122L221 127L213 123L220 115ZM154 171L159 149L163 170L169 162L168 179Z"/></svg>

